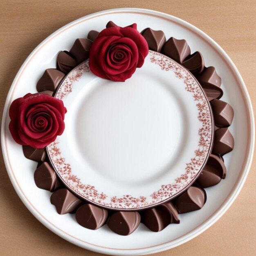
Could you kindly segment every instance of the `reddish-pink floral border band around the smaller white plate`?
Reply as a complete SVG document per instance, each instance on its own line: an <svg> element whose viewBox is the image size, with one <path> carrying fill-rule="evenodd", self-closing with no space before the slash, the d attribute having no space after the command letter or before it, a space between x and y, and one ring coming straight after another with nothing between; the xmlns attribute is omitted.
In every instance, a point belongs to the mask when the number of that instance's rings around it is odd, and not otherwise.
<svg viewBox="0 0 256 256"><path fill-rule="evenodd" d="M191 184L207 160L211 149L213 125L211 110L206 96L191 73L185 70L184 67L157 52L149 51L149 55L150 62L159 65L162 70L174 71L175 76L183 80L186 85L185 90L193 95L194 101L197 101L196 106L198 108L198 119L202 124L198 131L198 134L200 135L198 148L195 150L195 155L191 158L191 161L186 164L185 172L180 175L180 177L177 177L174 183L162 185L159 190L154 191L150 195L150 198L146 198L144 196L135 198L132 195L109 197L103 192L99 192L94 186L83 184L76 175L72 174L70 164L65 162L65 158L61 156L61 150L57 146L58 142L54 141L52 144L47 146L47 152L55 170L70 189L90 202L115 209L139 209L152 206L153 204L158 204L173 198L174 195L181 192ZM78 81L83 72L89 71L88 61L79 65L76 69L70 72L67 78L63 81L61 86L58 88L55 97L63 99L67 96L67 94L72 92L73 83Z"/></svg>

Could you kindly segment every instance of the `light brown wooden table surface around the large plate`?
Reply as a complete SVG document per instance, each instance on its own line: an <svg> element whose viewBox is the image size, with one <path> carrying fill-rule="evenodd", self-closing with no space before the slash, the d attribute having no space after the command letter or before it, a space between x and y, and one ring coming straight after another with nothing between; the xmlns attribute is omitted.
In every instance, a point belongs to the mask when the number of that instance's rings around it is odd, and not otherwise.
<svg viewBox="0 0 256 256"><path fill-rule="evenodd" d="M90 13L120 7L154 9L182 18L213 38L242 75L256 109L256 1L1 0L0 109L20 66L49 34ZM0 157L0 255L87 255L56 236L22 204ZM153 254L256 255L256 161L238 198L220 220L193 240Z"/></svg>

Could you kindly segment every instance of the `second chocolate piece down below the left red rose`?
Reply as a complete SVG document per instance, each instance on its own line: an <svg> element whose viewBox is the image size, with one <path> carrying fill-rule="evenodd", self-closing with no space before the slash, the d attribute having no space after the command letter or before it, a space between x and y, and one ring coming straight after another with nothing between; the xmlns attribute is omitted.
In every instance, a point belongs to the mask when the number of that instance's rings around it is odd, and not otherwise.
<svg viewBox="0 0 256 256"><path fill-rule="evenodd" d="M61 187L61 183L52 167L43 162L34 173L36 186L40 189L46 189L51 192Z"/></svg>

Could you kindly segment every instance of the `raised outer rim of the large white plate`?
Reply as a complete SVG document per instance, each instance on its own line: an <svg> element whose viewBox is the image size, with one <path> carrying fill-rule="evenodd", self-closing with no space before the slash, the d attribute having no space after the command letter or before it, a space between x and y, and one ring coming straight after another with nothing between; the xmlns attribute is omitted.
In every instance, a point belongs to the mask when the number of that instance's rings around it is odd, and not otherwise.
<svg viewBox="0 0 256 256"><path fill-rule="evenodd" d="M218 54L220 54L222 59L227 63L227 65L230 67L231 71L234 73L234 76L235 76L235 78L236 78L236 80L238 81L238 84L239 84L240 92L241 92L243 98L245 99L245 107L247 109L247 118L248 118L248 122L249 122L249 124L248 124L249 132L248 132L248 138L247 138L247 141L248 141L247 151L248 151L249 154L248 154L247 158L244 159L243 167L241 168L241 170L243 170L243 171L241 172L240 179L236 181L236 183L234 185L234 189L227 195L227 199L225 200L225 202L207 220L202 222L202 224L200 226L191 230L190 232L183 235L182 237L176 238L175 240L166 242L166 243L161 244L161 245L155 245L155 246L151 246L151 247L138 248L138 249L115 249L115 248L106 248L106 247L100 247L98 245L93 245L93 244L87 243L85 241L80 241L79 239L74 238L69 234L66 234L64 231L61 231L56 226L51 224L48 220L46 220L34 208L33 205L30 204L30 202L26 198L26 196L24 194L22 194L22 191L19 187L19 184L18 184L17 180L15 179L13 173L11 172L11 167L9 165L9 160L8 160L8 157L7 157L6 147L5 147L5 138L6 138L5 137L5 128L6 128L6 121L7 121L6 117L7 117L7 114L8 114L7 110L9 108L9 101L10 101L11 95L13 93L13 88L14 88L15 83L18 81L18 79L20 77L20 74L22 73L22 70L27 65L27 63L29 62L31 57L37 52L37 50L40 47L42 47L50 38L56 36L56 34L58 34L60 31L69 27L70 25L73 25L74 23L82 22L82 20L84 20L85 18L93 18L94 16L99 16L99 15L103 15L103 14L107 14L107 13L113 13L113 12L122 12L122 11L123 12L141 13L141 14L144 14L144 15L145 14L146 15L152 15L152 16L157 16L157 17L162 18L162 19L171 20L172 22L176 22L176 23L178 23L178 24L180 24L184 27L187 27L187 28L191 29L198 36L200 36L203 40L207 41L207 43L209 43L214 49L216 49ZM235 66L233 61L231 61L231 58L227 55L227 53L212 38L210 38L207 34L205 34L203 31L201 31L200 29L198 29L194 25L191 25L189 22L186 22L186 21L184 21L180 18L177 18L177 17L172 16L172 15L167 14L167 13L154 11L154 10L150 10L150 9L142 9L142 8L117 8L117 9L107 9L107 10L99 11L99 12L96 12L96 13L91 13L87 16L81 17L77 20L74 20L74 21L68 23L67 25L61 27L60 29L56 30L51 35L49 35L47 38L45 38L45 40L43 40L31 52L31 54L29 54L27 59L24 61L24 63L20 67L18 73L16 74L16 77L13 80L13 83L12 83L10 89L9 89L8 94L7 94L6 102L4 104L4 110L3 110L3 115L2 115L2 125L1 125L2 154L3 154L3 158L4 158L4 163L5 163L5 166L6 166L6 169L7 169L7 173L8 173L9 178L10 178L12 184L13 184L14 189L16 190L16 193L18 194L18 196L20 197L22 202L25 204L25 206L29 209L29 211L43 225L45 225L48 229L53 231L58 236L64 238L65 240L67 240L67 241L69 241L69 242L71 242L75 245L78 245L80 247L83 247L85 249L92 250L94 252L99 252L99 253L104 253L104 254L112 254L112 255L143 255L143 254L152 254L152 253L155 253L155 252L161 252L161 251L164 251L166 249L171 249L173 247L181 245L181 244L191 240L195 236L198 236L199 234L201 234L206 229L208 229L211 225L213 225L227 211L227 209L231 206L231 204L234 202L237 195L239 194L240 190L242 189L243 184L245 183L246 177L249 173L250 166L252 164L252 159L253 159L253 155L254 155L253 154L254 153L254 144L255 144L255 122L254 122L254 112L253 112L253 108L252 108L252 102L250 100L249 93L248 93L247 88L245 86L245 83L242 79L242 76L240 75L237 67ZM83 244L81 244L81 242L83 242Z"/></svg>

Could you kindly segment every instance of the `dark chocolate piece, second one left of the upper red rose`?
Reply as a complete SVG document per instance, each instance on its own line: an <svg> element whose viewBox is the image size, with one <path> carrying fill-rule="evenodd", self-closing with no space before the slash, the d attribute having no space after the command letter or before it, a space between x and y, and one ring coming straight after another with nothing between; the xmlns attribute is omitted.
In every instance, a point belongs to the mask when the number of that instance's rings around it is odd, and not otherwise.
<svg viewBox="0 0 256 256"><path fill-rule="evenodd" d="M85 61L89 57L92 41L87 38L78 38L70 50L70 54L76 58L77 64Z"/></svg>

